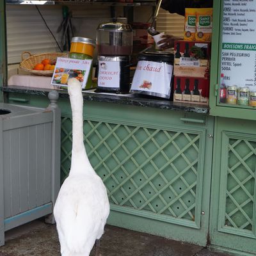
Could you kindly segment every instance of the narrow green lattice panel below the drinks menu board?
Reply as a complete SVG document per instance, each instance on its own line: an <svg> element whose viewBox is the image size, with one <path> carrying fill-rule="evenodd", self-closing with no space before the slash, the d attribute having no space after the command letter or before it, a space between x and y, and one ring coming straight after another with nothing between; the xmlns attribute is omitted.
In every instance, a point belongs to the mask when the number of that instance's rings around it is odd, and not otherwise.
<svg viewBox="0 0 256 256"><path fill-rule="evenodd" d="M255 148L255 141L228 141L225 227L254 231Z"/></svg>

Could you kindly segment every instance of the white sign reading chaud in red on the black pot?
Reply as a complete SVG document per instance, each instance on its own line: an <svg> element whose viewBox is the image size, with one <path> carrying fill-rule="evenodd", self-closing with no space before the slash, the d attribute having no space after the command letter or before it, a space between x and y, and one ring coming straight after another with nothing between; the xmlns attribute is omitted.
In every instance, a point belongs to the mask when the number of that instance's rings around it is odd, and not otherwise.
<svg viewBox="0 0 256 256"><path fill-rule="evenodd" d="M164 62L138 61L131 92L170 98L173 66Z"/></svg>

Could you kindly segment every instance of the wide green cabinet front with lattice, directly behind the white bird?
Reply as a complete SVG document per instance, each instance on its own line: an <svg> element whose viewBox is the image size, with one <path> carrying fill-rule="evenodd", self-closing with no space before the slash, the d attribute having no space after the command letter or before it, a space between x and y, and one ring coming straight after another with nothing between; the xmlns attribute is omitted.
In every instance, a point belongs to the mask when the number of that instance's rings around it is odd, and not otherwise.
<svg viewBox="0 0 256 256"><path fill-rule="evenodd" d="M205 246L213 118L100 102L86 102L84 111L86 152L111 203L108 223ZM64 179L70 115L61 125Z"/></svg>

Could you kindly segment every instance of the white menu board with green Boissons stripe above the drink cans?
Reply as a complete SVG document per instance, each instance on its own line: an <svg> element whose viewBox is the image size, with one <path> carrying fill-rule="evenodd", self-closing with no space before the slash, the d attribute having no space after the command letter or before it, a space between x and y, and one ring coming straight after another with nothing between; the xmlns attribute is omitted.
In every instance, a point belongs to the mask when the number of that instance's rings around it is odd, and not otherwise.
<svg viewBox="0 0 256 256"><path fill-rule="evenodd" d="M224 0L221 73L227 86L256 92L256 0Z"/></svg>

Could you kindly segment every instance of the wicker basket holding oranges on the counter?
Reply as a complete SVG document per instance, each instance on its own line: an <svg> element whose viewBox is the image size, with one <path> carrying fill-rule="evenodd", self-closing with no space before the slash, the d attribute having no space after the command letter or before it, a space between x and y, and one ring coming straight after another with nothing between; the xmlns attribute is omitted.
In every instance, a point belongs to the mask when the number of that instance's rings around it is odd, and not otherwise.
<svg viewBox="0 0 256 256"><path fill-rule="evenodd" d="M26 58L26 55L29 55L29 57ZM57 57L65 56L67 56L67 53L63 52L47 52L36 55L32 55L30 52L22 52L20 69L36 76L52 76L53 70L33 70L33 68L44 59L49 59L54 62L57 60Z"/></svg>

